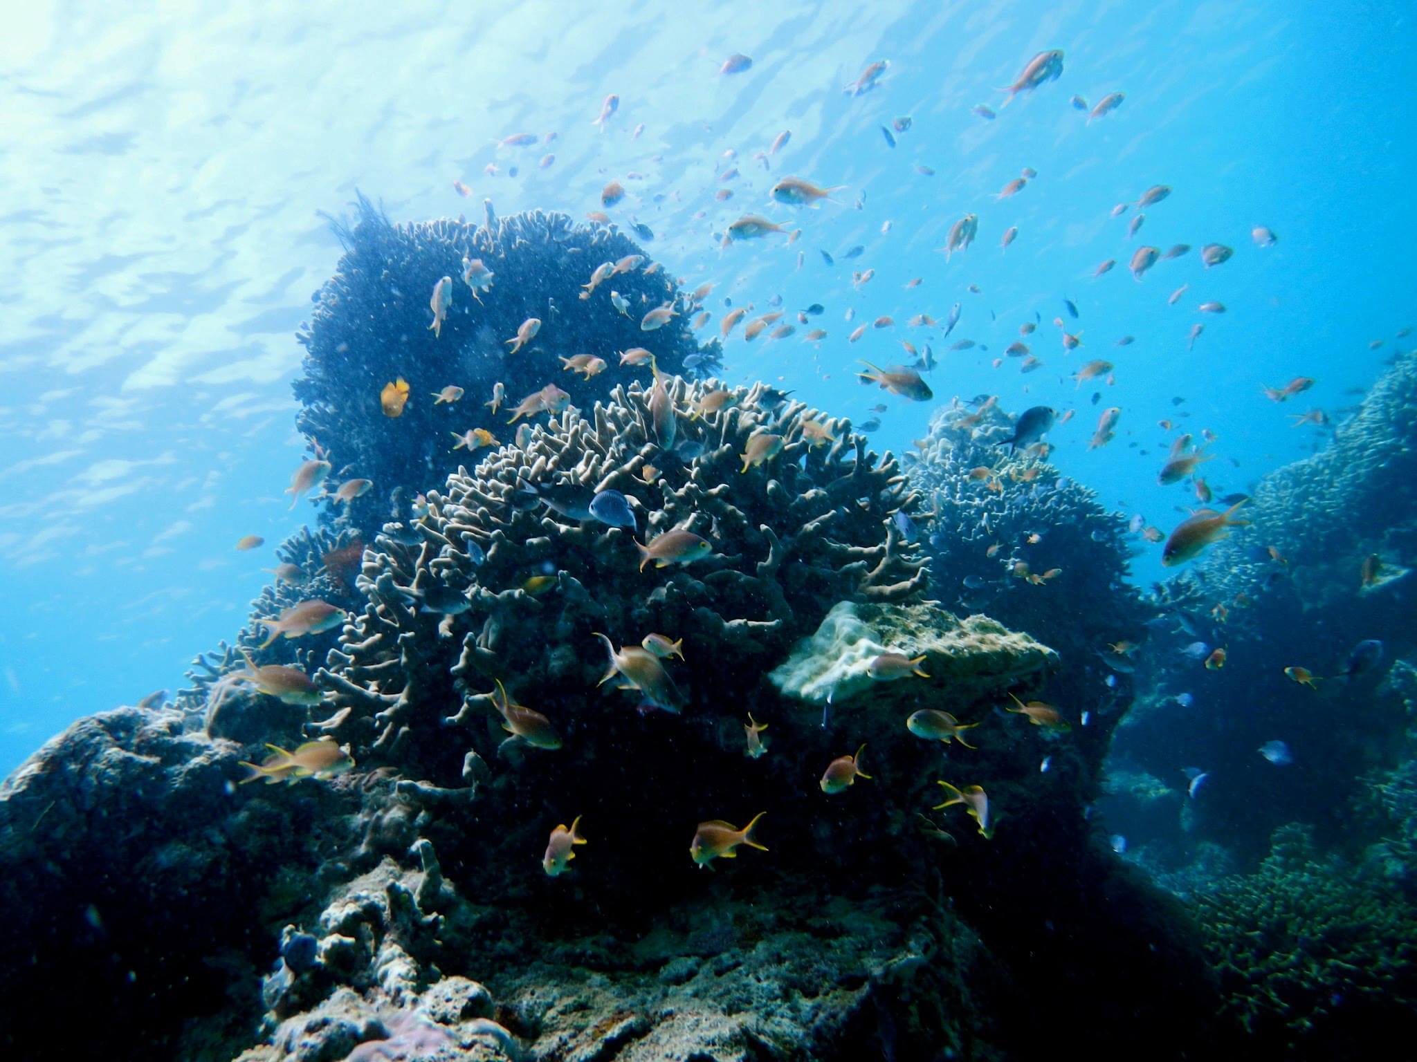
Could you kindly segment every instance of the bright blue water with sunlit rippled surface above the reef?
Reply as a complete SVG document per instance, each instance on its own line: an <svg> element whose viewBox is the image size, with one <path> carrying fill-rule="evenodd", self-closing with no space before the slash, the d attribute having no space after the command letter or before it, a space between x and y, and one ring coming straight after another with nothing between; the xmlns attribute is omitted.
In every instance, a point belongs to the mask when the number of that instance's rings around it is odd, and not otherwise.
<svg viewBox="0 0 1417 1062"><path fill-rule="evenodd" d="M1214 432L1206 479L1217 494L1246 490L1322 446L1322 432L1292 428L1288 413L1340 418L1356 401L1349 389L1374 379L1413 323L1407 4L381 11L191 4L157 17L71 3L6 13L0 770L79 715L180 687L196 651L239 629L272 547L312 518L282 496L303 442L289 387L295 329L339 258L319 212L347 211L356 188L395 221L476 218L485 197L500 215L580 217L619 178L629 195L616 219L653 228L649 249L689 287L717 283L708 329L724 297L825 304L819 350L802 341L809 326L752 346L740 327L727 378L767 378L857 422L886 401L874 440L896 450L952 395L998 394L1013 412L1076 409L1050 436L1053 460L1162 530L1196 503L1187 484L1156 484L1173 435L1158 421ZM999 86L1044 48L1066 51L1057 81L992 122L971 112L998 109ZM751 69L720 75L733 52L750 55ZM891 64L879 86L843 93L876 59ZM1091 125L1068 102L1112 91L1125 103ZM601 133L591 123L609 92L621 105ZM891 149L880 126L900 116L911 127ZM754 154L784 130L791 140L765 170ZM555 139L496 146L520 132ZM554 161L540 169L547 153ZM1022 167L1037 177L996 201ZM720 180L731 169L738 176ZM767 197L785 174L846 188L839 204L794 210ZM1132 211L1114 219L1110 210L1152 184L1173 193L1129 241ZM718 202L724 187L734 197ZM802 235L720 248L717 234L745 211ZM937 249L965 212L979 215L978 241L947 262ZM1017 241L1000 251L1010 225ZM1280 242L1257 248L1254 225ZM1176 242L1195 249L1142 282L1128 276L1138 245ZM1234 258L1203 269L1197 251L1210 242ZM857 244L862 256L845 261ZM1117 269L1093 279L1108 258ZM852 272L866 269L874 278L853 290ZM922 283L907 290L915 276ZM1182 283L1189 290L1169 306ZM1204 300L1229 312L1197 314ZM955 302L962 317L948 341L905 326L915 313L944 320ZM883 314L894 327L846 341ZM1027 341L1043 368L1020 375L1016 358L993 368L1036 314ZM1060 314L1081 330L1070 354L1051 324ZM1187 350L1195 323L1206 329ZM1135 344L1114 346L1124 334ZM854 382L859 357L908 360L901 338L931 343L935 402ZM989 351L948 353L956 338ZM1115 382L1074 387L1068 374L1093 358L1114 362ZM1263 398L1263 387L1297 375L1318 384L1282 406ZM1118 436L1090 452L1112 405ZM247 534L266 547L235 552ZM1156 578L1159 545L1138 548L1135 578Z"/></svg>

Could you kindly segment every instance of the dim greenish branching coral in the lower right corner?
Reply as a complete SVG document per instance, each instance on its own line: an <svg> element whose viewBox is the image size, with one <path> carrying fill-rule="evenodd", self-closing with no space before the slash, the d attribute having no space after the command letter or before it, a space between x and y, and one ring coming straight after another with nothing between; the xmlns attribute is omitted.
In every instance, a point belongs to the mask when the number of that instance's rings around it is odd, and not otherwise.
<svg viewBox="0 0 1417 1062"><path fill-rule="evenodd" d="M1193 896L1223 1017L1258 1058L1370 1058L1417 1007L1417 909L1308 827L1274 833L1251 875Z"/></svg>

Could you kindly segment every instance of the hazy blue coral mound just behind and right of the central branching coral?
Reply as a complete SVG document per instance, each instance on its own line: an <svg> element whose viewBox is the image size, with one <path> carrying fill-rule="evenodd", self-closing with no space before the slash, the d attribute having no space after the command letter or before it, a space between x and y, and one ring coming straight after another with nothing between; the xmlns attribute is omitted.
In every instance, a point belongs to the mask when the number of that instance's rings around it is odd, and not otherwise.
<svg viewBox="0 0 1417 1062"><path fill-rule="evenodd" d="M1063 707L1098 792L1112 729L1132 698L1132 657L1153 610L1127 582L1127 523L1044 460L1046 446L1009 453L1015 422L992 401L958 399L931 416L903 456L920 496L911 537L930 558L931 590L949 607L985 612L1056 650L1046 700ZM1135 651L1135 650L1134 650Z"/></svg>

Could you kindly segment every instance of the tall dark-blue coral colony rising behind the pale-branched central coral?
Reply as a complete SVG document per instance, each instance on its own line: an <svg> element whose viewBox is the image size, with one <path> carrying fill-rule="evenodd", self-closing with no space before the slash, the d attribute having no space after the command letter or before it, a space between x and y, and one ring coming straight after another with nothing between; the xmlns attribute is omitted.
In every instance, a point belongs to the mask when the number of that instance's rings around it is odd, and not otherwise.
<svg viewBox="0 0 1417 1062"><path fill-rule="evenodd" d="M363 195L356 205L353 225L334 225L344 255L296 337L306 354L295 396L299 430L334 463L330 489L350 477L373 480L373 490L341 514L366 537L458 467L465 455L452 450L451 433L486 428L506 438L510 413L493 415L485 405L493 384L506 388L504 409L548 382L589 405L631 379L633 370L621 367L616 351L646 347L662 368L686 374L686 358L701 371L717 362L717 341L700 348L691 336L687 296L662 269L649 272L648 258L580 297L602 262L645 253L614 225L541 211L496 218L490 202L482 225L448 218L393 225ZM482 259L493 272L490 290L476 299L461 279L463 258ZM435 336L428 303L444 276L453 282L452 307ZM626 313L611 303L612 289L629 300ZM679 316L643 331L643 314L663 303ZM540 331L509 354L506 340L531 317L543 321ZM594 379L567 372L558 360L584 353L606 362ZM380 391L395 378L408 381L410 401L390 418L380 411ZM462 387L462 399L435 405L432 394L446 385Z"/></svg>

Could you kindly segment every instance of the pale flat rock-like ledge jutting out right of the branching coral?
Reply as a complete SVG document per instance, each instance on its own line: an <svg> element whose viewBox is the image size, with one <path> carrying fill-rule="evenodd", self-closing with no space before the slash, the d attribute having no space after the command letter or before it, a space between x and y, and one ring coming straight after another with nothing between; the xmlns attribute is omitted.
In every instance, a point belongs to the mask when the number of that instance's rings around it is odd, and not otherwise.
<svg viewBox="0 0 1417 1062"><path fill-rule="evenodd" d="M908 683L873 678L871 661L883 653L924 657L925 677L910 675ZM842 602L768 678L788 697L811 704L842 704L870 690L871 705L880 707L896 700L893 691L908 687L913 698L928 691L938 707L955 711L1056 661L1051 649L988 616L961 620L932 605Z"/></svg>

